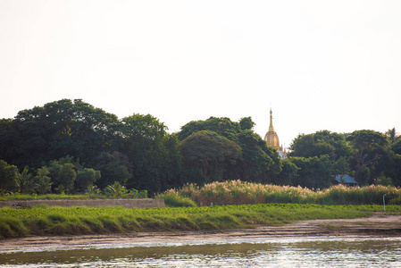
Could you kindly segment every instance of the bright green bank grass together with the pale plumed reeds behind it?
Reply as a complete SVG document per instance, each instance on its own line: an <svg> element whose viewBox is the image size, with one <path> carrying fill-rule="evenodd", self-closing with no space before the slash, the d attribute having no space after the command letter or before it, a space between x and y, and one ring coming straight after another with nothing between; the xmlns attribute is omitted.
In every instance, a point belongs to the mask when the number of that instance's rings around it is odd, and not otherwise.
<svg viewBox="0 0 401 268"><path fill-rule="evenodd" d="M386 212L400 214L401 205L397 204L401 189L395 187L335 186L311 190L240 180L213 182L204 187L188 184L158 195L156 198L163 198L168 205L164 208L4 207L0 209L0 236L226 230L313 219L352 219L383 212L384 194L389 203Z"/></svg>

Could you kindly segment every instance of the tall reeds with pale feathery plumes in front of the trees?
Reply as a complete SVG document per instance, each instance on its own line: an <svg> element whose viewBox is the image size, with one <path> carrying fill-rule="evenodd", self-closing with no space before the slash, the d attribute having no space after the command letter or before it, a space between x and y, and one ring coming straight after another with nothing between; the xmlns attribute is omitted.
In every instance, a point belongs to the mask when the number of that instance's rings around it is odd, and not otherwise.
<svg viewBox="0 0 401 268"><path fill-rule="evenodd" d="M178 190L171 189L163 195L188 197L196 205L242 205L264 203L322 204L322 205L381 205L385 202L399 204L401 189L371 185L363 188L332 186L325 189L264 185L241 180L230 180L197 187L188 184ZM393 200L394 201L391 201Z"/></svg>

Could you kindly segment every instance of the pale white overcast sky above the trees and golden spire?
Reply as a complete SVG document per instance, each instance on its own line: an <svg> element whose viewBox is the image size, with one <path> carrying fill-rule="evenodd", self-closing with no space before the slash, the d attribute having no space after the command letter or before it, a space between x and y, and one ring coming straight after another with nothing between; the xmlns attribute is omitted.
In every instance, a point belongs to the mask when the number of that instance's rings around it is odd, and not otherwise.
<svg viewBox="0 0 401 268"><path fill-rule="evenodd" d="M251 116L288 147L401 131L401 1L0 0L0 118L63 98L169 132Z"/></svg>

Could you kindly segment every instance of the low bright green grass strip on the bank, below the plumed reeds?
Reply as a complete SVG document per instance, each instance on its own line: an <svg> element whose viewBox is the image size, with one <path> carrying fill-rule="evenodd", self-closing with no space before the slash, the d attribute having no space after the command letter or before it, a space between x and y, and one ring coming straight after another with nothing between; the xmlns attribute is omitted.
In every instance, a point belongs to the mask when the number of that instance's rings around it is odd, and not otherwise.
<svg viewBox="0 0 401 268"><path fill-rule="evenodd" d="M228 230L313 219L353 219L382 212L381 205L214 205L202 207L122 208L47 207L0 209L0 237L94 233ZM400 205L386 206L401 214Z"/></svg>

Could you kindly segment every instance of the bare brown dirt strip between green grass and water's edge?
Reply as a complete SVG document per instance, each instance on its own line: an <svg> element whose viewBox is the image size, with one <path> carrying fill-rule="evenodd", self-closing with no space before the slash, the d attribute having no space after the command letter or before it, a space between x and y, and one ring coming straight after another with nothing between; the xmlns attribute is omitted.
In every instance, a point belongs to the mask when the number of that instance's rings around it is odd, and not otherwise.
<svg viewBox="0 0 401 268"><path fill-rule="evenodd" d="M0 251L21 247L79 247L141 242L260 239L283 237L401 237L401 214L373 214L369 218L313 220L250 230L137 232L72 237L29 237L0 240Z"/></svg>

